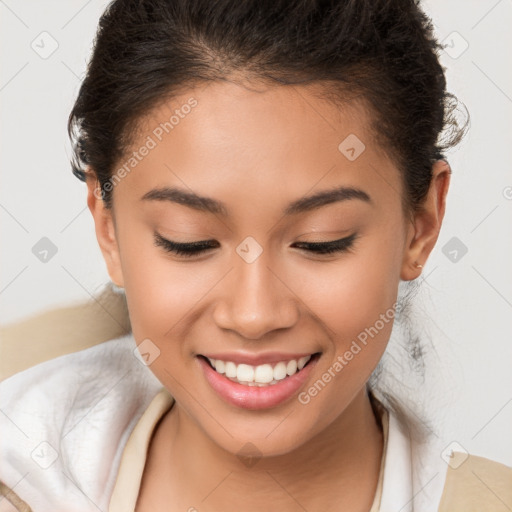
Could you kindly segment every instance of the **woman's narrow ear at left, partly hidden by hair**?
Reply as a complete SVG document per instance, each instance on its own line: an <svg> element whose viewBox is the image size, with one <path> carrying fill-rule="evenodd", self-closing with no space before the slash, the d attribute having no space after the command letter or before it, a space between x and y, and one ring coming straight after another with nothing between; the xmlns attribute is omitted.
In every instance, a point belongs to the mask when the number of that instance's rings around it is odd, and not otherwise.
<svg viewBox="0 0 512 512"><path fill-rule="evenodd" d="M100 183L92 170L86 172L86 183L87 206L94 219L96 238L107 264L108 274L116 286L123 287L124 280L113 210L105 207Z"/></svg>

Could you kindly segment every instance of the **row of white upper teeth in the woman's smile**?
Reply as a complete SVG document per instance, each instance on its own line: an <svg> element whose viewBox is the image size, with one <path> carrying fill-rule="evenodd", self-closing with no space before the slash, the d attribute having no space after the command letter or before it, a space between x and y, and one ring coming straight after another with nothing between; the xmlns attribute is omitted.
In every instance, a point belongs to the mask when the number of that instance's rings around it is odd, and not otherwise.
<svg viewBox="0 0 512 512"><path fill-rule="evenodd" d="M229 379L246 386L273 386L279 381L294 375L302 370L311 356L304 356L300 359L280 361L274 367L270 364L251 366L250 364L235 364L232 361L210 359L210 364L217 373L225 374Z"/></svg>

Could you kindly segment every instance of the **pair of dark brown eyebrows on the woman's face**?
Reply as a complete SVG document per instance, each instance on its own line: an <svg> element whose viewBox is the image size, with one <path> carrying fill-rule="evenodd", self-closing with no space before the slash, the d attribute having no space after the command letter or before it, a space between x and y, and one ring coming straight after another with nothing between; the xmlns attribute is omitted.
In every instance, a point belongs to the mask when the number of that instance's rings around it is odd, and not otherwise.
<svg viewBox="0 0 512 512"><path fill-rule="evenodd" d="M283 215L296 215L321 208L322 206L350 199L359 199L366 203L372 203L370 196L361 189L354 187L336 187L321 190L315 194L301 197L291 202L283 211ZM194 210L215 215L229 216L224 203L211 197L205 197L177 187L155 188L144 194L143 201L170 201L192 208Z"/></svg>

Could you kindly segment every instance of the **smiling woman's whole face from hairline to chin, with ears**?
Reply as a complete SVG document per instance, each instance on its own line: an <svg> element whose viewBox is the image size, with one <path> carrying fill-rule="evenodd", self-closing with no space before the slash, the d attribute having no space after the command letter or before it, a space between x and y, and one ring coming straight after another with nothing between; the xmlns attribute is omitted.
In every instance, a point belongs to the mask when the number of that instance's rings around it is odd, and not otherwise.
<svg viewBox="0 0 512 512"><path fill-rule="evenodd" d="M435 238L406 220L368 113L314 92L190 89L141 123L113 210L90 193L149 368L232 453L287 453L342 417Z"/></svg>

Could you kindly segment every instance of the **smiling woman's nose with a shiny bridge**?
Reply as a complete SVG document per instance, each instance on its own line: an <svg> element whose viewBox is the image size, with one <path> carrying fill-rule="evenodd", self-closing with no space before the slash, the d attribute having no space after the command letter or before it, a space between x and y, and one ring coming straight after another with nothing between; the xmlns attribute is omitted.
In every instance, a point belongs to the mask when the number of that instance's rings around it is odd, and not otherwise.
<svg viewBox="0 0 512 512"><path fill-rule="evenodd" d="M265 251L252 263L235 254L234 266L223 280L214 309L219 328L258 340L298 321L299 301L292 291L293 283L272 268Z"/></svg>

